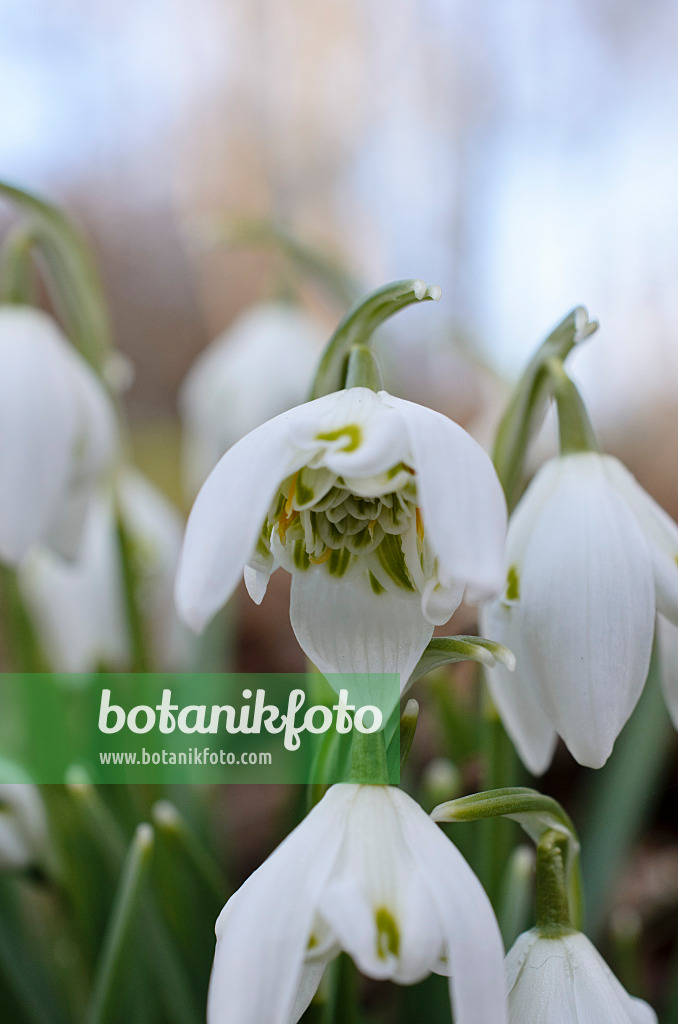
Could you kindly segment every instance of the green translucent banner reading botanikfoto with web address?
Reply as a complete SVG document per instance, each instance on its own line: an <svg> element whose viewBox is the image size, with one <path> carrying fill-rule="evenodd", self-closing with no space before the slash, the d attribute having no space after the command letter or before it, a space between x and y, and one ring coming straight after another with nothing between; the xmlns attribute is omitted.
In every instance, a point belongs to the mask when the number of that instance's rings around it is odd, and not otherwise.
<svg viewBox="0 0 678 1024"><path fill-rule="evenodd" d="M0 783L330 784L366 743L397 782L397 675L0 675Z"/></svg>

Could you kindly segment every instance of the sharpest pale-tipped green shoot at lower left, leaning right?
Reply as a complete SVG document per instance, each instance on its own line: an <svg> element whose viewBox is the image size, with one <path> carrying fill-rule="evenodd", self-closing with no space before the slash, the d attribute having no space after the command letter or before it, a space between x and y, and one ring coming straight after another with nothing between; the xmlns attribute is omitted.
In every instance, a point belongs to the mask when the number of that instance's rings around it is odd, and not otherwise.
<svg viewBox="0 0 678 1024"><path fill-rule="evenodd" d="M140 824L130 845L113 904L103 949L96 968L86 1024L105 1024L110 1019L115 997L115 983L125 942L135 918L139 890L149 867L152 850L153 829L149 824Z"/></svg>

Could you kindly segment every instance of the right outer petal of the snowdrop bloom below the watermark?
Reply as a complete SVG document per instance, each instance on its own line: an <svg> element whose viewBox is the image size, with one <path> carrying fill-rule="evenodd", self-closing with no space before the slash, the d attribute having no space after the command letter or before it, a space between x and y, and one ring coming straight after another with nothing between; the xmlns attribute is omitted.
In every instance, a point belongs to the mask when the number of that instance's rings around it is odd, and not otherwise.
<svg viewBox="0 0 678 1024"><path fill-rule="evenodd" d="M440 918L459 1024L505 1024L504 946L490 900L459 850L400 790L392 799L410 853Z"/></svg>

